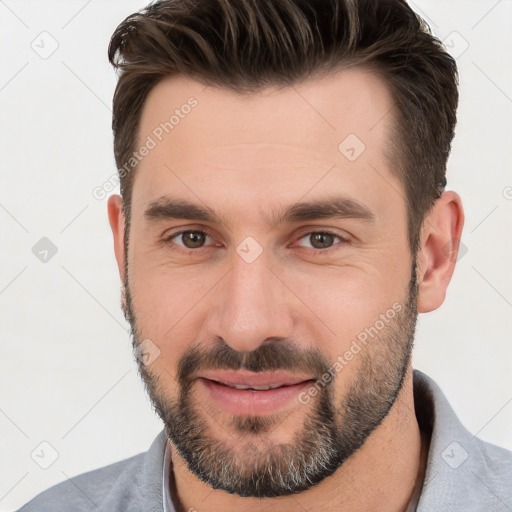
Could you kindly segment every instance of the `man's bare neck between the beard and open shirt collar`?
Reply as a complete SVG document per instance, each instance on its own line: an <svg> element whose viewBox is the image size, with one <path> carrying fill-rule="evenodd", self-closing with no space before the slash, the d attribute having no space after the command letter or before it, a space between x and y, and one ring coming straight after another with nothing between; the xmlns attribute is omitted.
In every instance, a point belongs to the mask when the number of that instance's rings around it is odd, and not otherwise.
<svg viewBox="0 0 512 512"><path fill-rule="evenodd" d="M258 499L212 490L188 470L174 446L170 446L178 512L249 512L256 508L269 512L407 512L415 510L428 458L428 445L424 442L422 450L422 435L414 411L411 368L388 416L364 445L332 476L299 494Z"/></svg>

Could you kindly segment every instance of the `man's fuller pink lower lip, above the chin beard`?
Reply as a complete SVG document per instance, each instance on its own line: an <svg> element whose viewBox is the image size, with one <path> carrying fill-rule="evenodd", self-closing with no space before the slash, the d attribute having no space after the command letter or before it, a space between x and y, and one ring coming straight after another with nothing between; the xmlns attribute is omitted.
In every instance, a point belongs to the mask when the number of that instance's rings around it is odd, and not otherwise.
<svg viewBox="0 0 512 512"><path fill-rule="evenodd" d="M313 384L308 380L292 386L257 391L230 388L209 379L198 380L206 388L210 398L222 409L232 414L251 416L279 412L293 399L298 400L299 393Z"/></svg>

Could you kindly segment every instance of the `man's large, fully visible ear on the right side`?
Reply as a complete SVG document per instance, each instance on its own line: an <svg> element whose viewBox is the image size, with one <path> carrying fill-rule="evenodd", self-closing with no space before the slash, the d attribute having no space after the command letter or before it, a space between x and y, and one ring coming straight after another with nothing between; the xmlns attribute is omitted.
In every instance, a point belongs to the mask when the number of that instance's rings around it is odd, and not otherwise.
<svg viewBox="0 0 512 512"><path fill-rule="evenodd" d="M418 312L427 313L444 302L455 270L464 210L460 196L444 192L423 221L417 257Z"/></svg>

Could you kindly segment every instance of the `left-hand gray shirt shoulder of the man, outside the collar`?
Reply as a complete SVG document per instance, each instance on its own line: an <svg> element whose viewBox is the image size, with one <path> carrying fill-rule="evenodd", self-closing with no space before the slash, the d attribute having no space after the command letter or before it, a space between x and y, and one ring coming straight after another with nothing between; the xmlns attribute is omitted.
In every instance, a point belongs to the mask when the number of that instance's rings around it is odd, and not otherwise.
<svg viewBox="0 0 512 512"><path fill-rule="evenodd" d="M38 494L18 512L97 511L112 492L119 498L140 502L139 482L144 453L69 478Z"/></svg>

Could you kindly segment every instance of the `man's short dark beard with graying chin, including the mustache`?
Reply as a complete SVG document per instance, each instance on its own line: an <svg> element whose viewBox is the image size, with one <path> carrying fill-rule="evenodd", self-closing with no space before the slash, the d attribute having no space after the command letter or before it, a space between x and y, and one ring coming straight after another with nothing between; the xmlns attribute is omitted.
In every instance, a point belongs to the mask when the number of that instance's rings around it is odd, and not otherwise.
<svg viewBox="0 0 512 512"><path fill-rule="evenodd" d="M302 405L309 410L305 410L300 427L293 423L297 427L289 442L277 443L271 438L271 432L286 419L277 414L231 415L225 428L229 438L216 437L208 423L209 411L194 400L195 375L211 369L290 370L305 371L321 379L329 369L332 372L333 366L321 351L300 350L296 344L280 338L268 339L269 343L262 343L251 352L236 351L222 338L210 350L193 346L178 363L177 398L167 397L160 376L137 358L138 371L153 408L188 469L213 489L243 497L273 498L309 489L342 466L386 418L411 364L418 316L413 260L404 307L357 354L359 368L345 383L344 396L335 398L339 380L335 376L307 405ZM128 277L122 308L136 349L144 336L137 325ZM214 418L214 411L210 415Z"/></svg>

